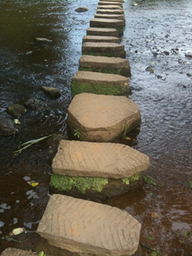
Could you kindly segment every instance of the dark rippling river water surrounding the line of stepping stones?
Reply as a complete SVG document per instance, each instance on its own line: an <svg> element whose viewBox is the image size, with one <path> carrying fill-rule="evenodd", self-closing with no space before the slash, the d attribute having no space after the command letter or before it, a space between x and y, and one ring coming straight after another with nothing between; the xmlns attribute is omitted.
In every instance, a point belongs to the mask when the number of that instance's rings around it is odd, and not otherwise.
<svg viewBox="0 0 192 256"><path fill-rule="evenodd" d="M142 186L110 200L141 224L140 241L160 255L191 255L192 232L192 2L145 0L124 2L126 26L121 44L132 77L130 98L139 105L142 124L119 140L150 158L143 176L156 185ZM0 137L0 252L7 247L33 248L35 230L47 195L55 147L45 141L20 155L17 147L49 134L68 137L66 118L70 83L78 69L83 35L98 1L18 1L0 3L0 117L6 108L34 98L33 109L20 118L20 133ZM89 11L76 13L80 5ZM35 37L52 40L37 44ZM186 56L187 54L187 56ZM58 87L51 100L41 86ZM39 182L32 188L27 181ZM158 218L151 214L156 212ZM6 238L25 227L23 241ZM170 232L174 231L178 236ZM33 236L34 235L34 236ZM143 255L150 255L142 247Z"/></svg>

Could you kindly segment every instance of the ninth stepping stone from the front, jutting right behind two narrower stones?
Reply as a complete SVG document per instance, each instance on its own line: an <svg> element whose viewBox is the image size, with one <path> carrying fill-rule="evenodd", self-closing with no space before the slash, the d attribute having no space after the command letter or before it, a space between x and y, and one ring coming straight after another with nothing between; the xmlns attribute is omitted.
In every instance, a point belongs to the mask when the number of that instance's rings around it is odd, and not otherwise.
<svg viewBox="0 0 192 256"><path fill-rule="evenodd" d="M116 29L118 31L118 34L123 33L124 26L125 26L124 20L96 19L96 18L92 18L92 20L90 20L90 27Z"/></svg>

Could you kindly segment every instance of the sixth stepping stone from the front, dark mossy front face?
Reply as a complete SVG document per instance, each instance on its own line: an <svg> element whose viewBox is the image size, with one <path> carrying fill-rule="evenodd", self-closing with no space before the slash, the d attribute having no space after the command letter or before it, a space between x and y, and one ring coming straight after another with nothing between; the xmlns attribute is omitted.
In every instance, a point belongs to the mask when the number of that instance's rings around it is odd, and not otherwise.
<svg viewBox="0 0 192 256"><path fill-rule="evenodd" d="M126 58L124 45L115 43L83 43L82 55Z"/></svg>

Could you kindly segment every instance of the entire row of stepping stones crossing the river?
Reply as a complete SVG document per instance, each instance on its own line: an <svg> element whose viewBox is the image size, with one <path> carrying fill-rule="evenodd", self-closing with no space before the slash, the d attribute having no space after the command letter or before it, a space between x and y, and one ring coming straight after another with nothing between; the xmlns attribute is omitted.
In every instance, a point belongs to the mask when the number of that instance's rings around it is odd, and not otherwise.
<svg viewBox="0 0 192 256"><path fill-rule="evenodd" d="M37 228L49 245L80 255L142 254L141 225L135 218L121 209L80 199L100 201L133 188L141 181L139 173L148 168L146 155L111 143L141 122L139 107L117 96L128 91L130 77L119 38L123 28L122 0L100 0L71 83L74 98L68 127L82 141L59 143L52 161L52 196Z"/></svg>

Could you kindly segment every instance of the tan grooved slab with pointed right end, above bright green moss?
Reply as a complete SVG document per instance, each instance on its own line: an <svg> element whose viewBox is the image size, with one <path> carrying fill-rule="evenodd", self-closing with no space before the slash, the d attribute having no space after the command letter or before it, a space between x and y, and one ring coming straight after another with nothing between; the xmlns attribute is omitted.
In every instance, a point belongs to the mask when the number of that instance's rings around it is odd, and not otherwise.
<svg viewBox="0 0 192 256"><path fill-rule="evenodd" d="M148 168L148 156L118 143L62 140L52 171L68 176L121 179Z"/></svg>

